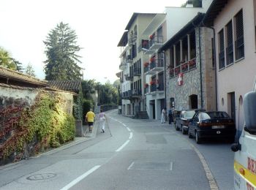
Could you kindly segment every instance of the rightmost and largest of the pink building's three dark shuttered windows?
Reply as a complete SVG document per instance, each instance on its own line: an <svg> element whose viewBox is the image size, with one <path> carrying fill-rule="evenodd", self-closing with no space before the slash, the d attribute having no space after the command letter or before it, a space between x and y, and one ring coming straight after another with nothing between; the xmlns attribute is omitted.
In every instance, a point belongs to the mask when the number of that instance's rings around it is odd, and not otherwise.
<svg viewBox="0 0 256 190"><path fill-rule="evenodd" d="M235 16L236 24L236 60L244 58L244 26L243 26L243 10L239 11Z"/></svg>

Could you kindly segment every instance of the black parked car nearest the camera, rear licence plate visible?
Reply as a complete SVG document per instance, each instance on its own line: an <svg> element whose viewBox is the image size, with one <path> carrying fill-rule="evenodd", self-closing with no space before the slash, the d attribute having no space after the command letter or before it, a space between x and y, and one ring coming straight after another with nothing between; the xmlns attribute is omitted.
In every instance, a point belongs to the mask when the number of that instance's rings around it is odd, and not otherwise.
<svg viewBox="0 0 256 190"><path fill-rule="evenodd" d="M225 112L198 111L189 122L189 138L195 137L199 144L203 138L225 138L233 142L236 124Z"/></svg>

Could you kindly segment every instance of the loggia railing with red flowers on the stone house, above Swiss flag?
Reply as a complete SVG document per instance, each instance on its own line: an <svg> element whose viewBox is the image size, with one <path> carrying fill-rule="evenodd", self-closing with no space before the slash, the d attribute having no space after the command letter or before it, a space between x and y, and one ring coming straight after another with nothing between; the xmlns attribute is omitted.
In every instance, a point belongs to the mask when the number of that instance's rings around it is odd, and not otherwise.
<svg viewBox="0 0 256 190"><path fill-rule="evenodd" d="M191 60L184 62L175 68L171 68L169 72L170 78L175 77L181 72L189 72L190 70L195 69L196 65L196 58L192 58Z"/></svg>

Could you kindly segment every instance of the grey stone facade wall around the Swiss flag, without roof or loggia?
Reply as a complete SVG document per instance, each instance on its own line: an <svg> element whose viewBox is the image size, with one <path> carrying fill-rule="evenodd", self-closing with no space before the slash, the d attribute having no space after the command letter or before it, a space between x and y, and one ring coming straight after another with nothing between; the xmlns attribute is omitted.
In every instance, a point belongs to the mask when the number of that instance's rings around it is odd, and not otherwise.
<svg viewBox="0 0 256 190"><path fill-rule="evenodd" d="M199 38L200 33L200 38ZM191 108L189 96L197 95L197 107L206 110L214 110L215 108L215 75L212 66L211 37L213 31L211 28L195 28L196 36L196 67L189 72L184 72L183 85L178 86L178 76L168 77L170 69L166 69L167 78L167 107L170 107L170 98L175 100L175 108L184 110ZM200 42L200 45L199 45ZM201 51L200 51L201 49ZM200 55L201 53L201 55ZM170 50L165 52L166 65L170 64ZM200 61L202 66L202 89L203 104L201 106L200 91Z"/></svg>

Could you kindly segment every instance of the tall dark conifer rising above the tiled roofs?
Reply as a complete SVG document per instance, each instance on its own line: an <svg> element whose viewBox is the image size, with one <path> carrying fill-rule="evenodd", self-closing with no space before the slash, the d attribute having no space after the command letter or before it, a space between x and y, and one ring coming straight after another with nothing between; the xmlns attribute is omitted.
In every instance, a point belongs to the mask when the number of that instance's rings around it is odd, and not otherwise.
<svg viewBox="0 0 256 190"><path fill-rule="evenodd" d="M81 49L76 45L77 35L68 24L59 23L50 31L44 41L47 60L45 61L46 80L80 80L82 75L78 64L80 56L76 53Z"/></svg>

